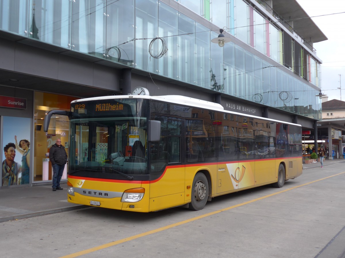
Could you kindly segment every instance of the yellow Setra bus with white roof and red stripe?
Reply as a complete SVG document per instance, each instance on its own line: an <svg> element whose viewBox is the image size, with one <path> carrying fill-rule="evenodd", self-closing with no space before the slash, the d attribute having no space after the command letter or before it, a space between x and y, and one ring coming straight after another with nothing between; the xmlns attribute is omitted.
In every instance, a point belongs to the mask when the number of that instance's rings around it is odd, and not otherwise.
<svg viewBox="0 0 345 258"><path fill-rule="evenodd" d="M72 101L70 203L134 212L204 208L213 197L282 187L302 174L300 125L224 110L185 96Z"/></svg>

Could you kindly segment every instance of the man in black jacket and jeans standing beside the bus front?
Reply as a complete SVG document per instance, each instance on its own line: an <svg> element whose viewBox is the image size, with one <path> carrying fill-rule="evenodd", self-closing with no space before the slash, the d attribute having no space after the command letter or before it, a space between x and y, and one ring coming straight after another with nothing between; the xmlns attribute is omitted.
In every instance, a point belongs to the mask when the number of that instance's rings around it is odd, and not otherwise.
<svg viewBox="0 0 345 258"><path fill-rule="evenodd" d="M60 139L57 139L55 142L56 143L50 147L49 150L49 160L53 166L53 191L63 189L60 187L60 180L65 164L67 163L65 147L61 145Z"/></svg>

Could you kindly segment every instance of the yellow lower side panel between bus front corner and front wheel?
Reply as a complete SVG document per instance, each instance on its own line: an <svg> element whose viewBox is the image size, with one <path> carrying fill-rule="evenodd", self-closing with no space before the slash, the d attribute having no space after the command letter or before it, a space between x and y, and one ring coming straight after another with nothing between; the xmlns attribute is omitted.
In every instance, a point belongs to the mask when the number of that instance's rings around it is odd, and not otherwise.
<svg viewBox="0 0 345 258"><path fill-rule="evenodd" d="M150 183L150 211L183 205L184 192L185 166L168 166L159 180Z"/></svg>

